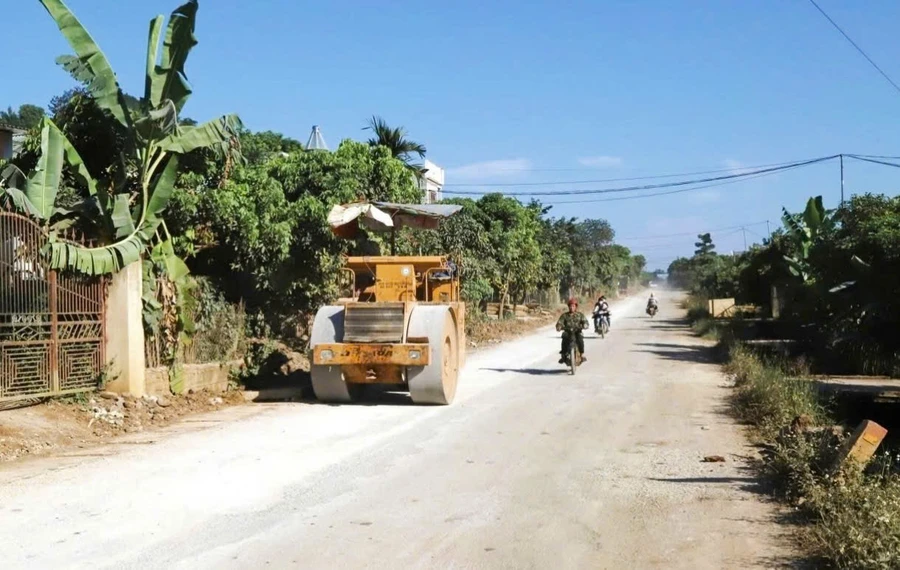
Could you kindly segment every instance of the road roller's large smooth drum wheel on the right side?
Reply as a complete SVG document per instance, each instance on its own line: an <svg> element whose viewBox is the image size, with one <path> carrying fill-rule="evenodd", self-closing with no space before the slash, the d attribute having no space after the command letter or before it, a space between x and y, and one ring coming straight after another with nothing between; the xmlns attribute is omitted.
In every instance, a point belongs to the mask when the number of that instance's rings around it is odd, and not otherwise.
<svg viewBox="0 0 900 570"><path fill-rule="evenodd" d="M459 335L448 307L419 305L407 331L409 342L428 342L428 366L409 366L409 395L416 404L447 405L456 396L459 377Z"/></svg>

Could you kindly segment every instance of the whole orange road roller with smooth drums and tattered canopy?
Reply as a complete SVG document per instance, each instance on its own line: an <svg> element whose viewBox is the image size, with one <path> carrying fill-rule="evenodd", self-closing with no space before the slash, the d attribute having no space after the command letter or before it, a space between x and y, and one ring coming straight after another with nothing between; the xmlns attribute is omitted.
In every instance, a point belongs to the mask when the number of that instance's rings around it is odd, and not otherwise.
<svg viewBox="0 0 900 570"><path fill-rule="evenodd" d="M329 222L337 235L349 237L348 226L359 217L370 230L374 225L393 232L400 225L428 227L429 221L458 210L358 203L335 207ZM373 217L378 218L374 224ZM452 403L465 363L466 311L458 270L448 258L345 257L342 274L344 296L319 309L310 335L316 397L352 402L363 387L377 384L408 391L417 404Z"/></svg>

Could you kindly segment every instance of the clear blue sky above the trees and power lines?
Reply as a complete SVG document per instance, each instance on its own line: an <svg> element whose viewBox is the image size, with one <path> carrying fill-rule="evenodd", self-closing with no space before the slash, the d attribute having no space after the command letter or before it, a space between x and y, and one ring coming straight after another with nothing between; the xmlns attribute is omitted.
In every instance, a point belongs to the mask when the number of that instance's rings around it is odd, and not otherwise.
<svg viewBox="0 0 900 570"><path fill-rule="evenodd" d="M4 19L16 22L18 39L4 58L0 105L46 105L73 85L53 63L68 46L37 0L10 4ZM68 1L134 93L148 22L177 4ZM900 81L900 3L819 4ZM900 154L900 93L805 0L204 0L197 36L191 117L237 112L251 129L303 142L318 124L333 148L364 138L365 120L379 114L427 145L448 169L447 190ZM848 194L894 195L900 171L847 162L845 180ZM782 205L802 209L823 194L834 206L839 189L833 162L553 212L606 218L621 243L665 267L693 249L691 235L671 234L755 223L746 232L752 243L765 220L778 224ZM713 237L720 251L744 245L739 230Z"/></svg>

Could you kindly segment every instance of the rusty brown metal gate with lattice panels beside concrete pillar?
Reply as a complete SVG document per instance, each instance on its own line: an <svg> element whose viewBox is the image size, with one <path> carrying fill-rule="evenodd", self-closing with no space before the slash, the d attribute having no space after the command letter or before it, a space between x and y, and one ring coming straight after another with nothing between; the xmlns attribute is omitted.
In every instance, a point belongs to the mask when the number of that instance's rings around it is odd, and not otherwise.
<svg viewBox="0 0 900 570"><path fill-rule="evenodd" d="M0 402L93 390L104 368L106 280L50 269L47 243L0 210Z"/></svg>

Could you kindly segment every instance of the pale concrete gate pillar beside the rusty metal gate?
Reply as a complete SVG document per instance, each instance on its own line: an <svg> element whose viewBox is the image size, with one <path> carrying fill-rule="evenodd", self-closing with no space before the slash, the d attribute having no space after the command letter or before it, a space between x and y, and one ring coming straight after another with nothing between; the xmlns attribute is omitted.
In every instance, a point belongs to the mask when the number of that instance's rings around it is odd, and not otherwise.
<svg viewBox="0 0 900 570"><path fill-rule="evenodd" d="M106 363L113 380L107 390L143 396L146 393L141 262L112 276L106 300Z"/></svg>

